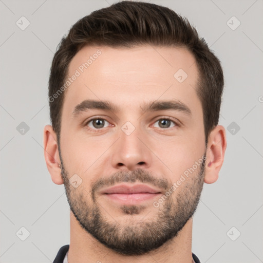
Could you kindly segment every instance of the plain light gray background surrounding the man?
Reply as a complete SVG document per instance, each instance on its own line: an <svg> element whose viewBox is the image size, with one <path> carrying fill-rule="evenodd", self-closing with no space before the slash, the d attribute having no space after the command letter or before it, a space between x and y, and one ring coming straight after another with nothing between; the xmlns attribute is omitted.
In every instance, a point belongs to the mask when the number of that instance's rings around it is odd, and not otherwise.
<svg viewBox="0 0 263 263"><path fill-rule="evenodd" d="M0 262L52 262L69 243L64 185L51 181L44 159L49 69L70 26L114 2L0 0ZM226 80L219 124L227 129L227 152L219 179L204 184L192 251L202 263L263 262L263 1L148 2L189 18L221 60ZM25 30L16 25L21 16L30 22ZM22 227L30 232L24 241Z"/></svg>

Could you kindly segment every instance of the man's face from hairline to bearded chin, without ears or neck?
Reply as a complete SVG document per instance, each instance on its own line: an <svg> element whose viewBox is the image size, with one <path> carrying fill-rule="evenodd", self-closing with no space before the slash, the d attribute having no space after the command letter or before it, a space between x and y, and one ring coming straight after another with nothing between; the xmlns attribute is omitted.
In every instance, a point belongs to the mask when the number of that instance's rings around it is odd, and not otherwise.
<svg viewBox="0 0 263 263"><path fill-rule="evenodd" d="M65 91L59 153L72 213L118 253L159 248L193 216L203 186L193 55L178 47L84 47L68 73L77 77Z"/></svg>

